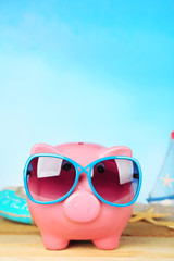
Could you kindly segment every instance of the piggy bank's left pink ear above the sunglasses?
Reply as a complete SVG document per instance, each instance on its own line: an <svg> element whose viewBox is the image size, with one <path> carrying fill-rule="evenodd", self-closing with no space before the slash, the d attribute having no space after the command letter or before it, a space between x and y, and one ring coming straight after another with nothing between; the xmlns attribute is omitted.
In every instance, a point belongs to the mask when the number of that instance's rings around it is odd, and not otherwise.
<svg viewBox="0 0 174 261"><path fill-rule="evenodd" d="M55 153L55 154L60 154L60 152L54 147L52 147L50 145L45 145L45 144L34 145L34 147L30 150L30 154L37 154L37 153Z"/></svg>

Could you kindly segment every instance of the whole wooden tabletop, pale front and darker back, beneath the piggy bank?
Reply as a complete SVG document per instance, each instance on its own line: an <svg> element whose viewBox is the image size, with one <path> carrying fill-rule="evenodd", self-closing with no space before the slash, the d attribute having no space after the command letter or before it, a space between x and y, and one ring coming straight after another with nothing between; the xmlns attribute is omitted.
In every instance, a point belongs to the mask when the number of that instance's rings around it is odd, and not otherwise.
<svg viewBox="0 0 174 261"><path fill-rule="evenodd" d="M154 259L174 261L174 229L146 222L130 223L115 250L99 250L91 241L71 241L65 250L49 251L44 248L36 226L0 217L0 261L147 261Z"/></svg>

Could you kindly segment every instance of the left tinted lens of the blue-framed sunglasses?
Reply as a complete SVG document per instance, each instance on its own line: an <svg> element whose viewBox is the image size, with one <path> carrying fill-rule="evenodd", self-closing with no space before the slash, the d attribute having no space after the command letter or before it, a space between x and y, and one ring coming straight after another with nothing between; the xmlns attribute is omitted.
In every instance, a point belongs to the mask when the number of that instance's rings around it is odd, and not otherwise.
<svg viewBox="0 0 174 261"><path fill-rule="evenodd" d="M37 157L28 164L28 191L35 200L53 201L70 191L75 177L75 166L70 161L54 157Z"/></svg>

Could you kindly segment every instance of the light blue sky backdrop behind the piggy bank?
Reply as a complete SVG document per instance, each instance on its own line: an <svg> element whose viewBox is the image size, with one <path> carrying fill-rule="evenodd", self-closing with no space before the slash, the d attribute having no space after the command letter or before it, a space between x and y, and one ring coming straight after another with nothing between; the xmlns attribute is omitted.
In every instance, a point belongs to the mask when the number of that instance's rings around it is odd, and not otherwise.
<svg viewBox="0 0 174 261"><path fill-rule="evenodd" d="M148 196L174 129L174 1L0 0L0 188L32 146L129 146Z"/></svg>

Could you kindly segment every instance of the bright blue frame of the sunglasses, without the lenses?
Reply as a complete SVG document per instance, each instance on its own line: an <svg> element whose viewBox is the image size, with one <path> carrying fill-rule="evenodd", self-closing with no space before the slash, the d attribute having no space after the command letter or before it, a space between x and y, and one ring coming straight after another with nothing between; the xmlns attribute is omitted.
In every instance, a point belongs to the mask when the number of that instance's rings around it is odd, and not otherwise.
<svg viewBox="0 0 174 261"><path fill-rule="evenodd" d="M32 197L32 195L29 194L29 190L28 190L28 186L27 186L27 169L28 169L28 165L29 165L30 161L32 161L33 159L35 159L35 158L38 158L38 157L53 157L53 158L59 158L59 159L62 159L62 160L70 161L70 162L74 165L75 171L76 171L75 182L74 182L72 188L70 189L70 191L69 191L65 196L63 196L63 197L61 197L61 198L59 198L59 199L57 199L57 200L52 200L52 201L39 201L39 200L36 200L36 199L34 199L34 198ZM137 169L138 169L138 172L139 172L139 183L138 183L138 188L137 188L136 195L134 196L134 199L133 199L130 202L124 203L124 204L113 203L113 202L110 202L110 201L103 199L103 198L95 190L95 187L94 187L94 185L92 185L92 183L91 183L91 170L92 170L94 165L96 165L96 164L99 163L99 162L105 161L105 160L116 160L116 159L123 159L123 160L130 160L130 161L133 161L133 162L136 164L136 166L137 166ZM80 169L80 171L79 171L78 169ZM89 170L87 171L87 169L89 169ZM140 187L141 187L141 182L142 182L142 173L141 173L140 164L139 164L139 162L138 162L135 158L125 157L125 156L104 157L104 158L100 158L100 159L91 162L91 163L88 164L87 166L83 167L80 164L78 164L77 162L75 162L74 160L72 160L72 159L70 159L70 158L67 158L67 157L65 157L65 156L52 154L52 153L38 153L38 154L33 154L33 156L30 156L30 157L27 159L27 161L26 161L26 163L25 163L25 167L24 167L24 173L23 173L24 187L25 187L26 195L27 195L27 197L28 197L33 202L39 203L39 204L53 204L53 203L61 202L61 201L63 201L64 199L66 199L66 198L73 192L74 188L76 187L76 185L77 185L77 183L78 183L79 175L80 175L82 173L86 173L86 174L87 174L88 182L89 182L89 186L90 186L94 195L95 195L100 201L102 201L102 202L104 202L104 203L107 203L107 204L110 204L110 206L113 206L113 207L128 207L128 206L133 204L133 203L137 200L137 198L138 198L138 196L139 196L139 191L140 191Z"/></svg>

